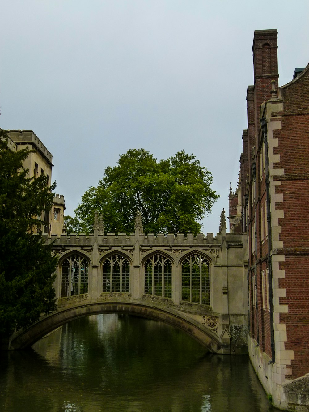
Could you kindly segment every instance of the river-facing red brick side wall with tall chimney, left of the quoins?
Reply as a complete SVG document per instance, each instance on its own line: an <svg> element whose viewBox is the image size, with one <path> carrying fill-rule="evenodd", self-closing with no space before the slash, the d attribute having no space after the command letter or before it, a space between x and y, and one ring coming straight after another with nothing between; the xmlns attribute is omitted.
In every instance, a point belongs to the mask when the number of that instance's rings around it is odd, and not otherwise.
<svg viewBox="0 0 309 412"><path fill-rule="evenodd" d="M264 101L271 97L271 81L275 80L275 87L278 87L278 63L277 63L277 30L258 30L255 31L253 40L253 69L254 69L254 86L248 86L247 89L247 113L248 113L248 130L246 139L243 139L243 153L248 158L243 162L243 172L245 169L249 173L248 189L248 242L249 242L249 290L250 290L250 334L259 340L262 351L271 356L270 347L270 316L267 309L263 309L262 297L262 270L267 268L267 239L265 234L262 238L262 218L261 206L264 204L266 197L265 173L260 171L260 106ZM253 147L255 149L253 150ZM251 176L253 169L252 164L255 162L255 196L254 201L251 191ZM246 176L246 174L244 174ZM246 179L246 177L245 177ZM242 192L245 194L245 187ZM252 252L252 227L256 225L256 252ZM267 222L264 223L265 225ZM265 232L265 231L264 231ZM257 299L258 310L255 308L255 302L252 301L252 284L253 271L256 271L257 277Z"/></svg>

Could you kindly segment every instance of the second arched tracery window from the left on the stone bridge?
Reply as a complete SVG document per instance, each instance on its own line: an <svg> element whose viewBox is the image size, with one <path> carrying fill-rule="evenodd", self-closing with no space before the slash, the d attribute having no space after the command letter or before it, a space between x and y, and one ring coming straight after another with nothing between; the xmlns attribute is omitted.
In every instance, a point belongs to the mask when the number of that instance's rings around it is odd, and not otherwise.
<svg viewBox="0 0 309 412"><path fill-rule="evenodd" d="M103 262L103 292L130 291L130 263L121 255L112 255Z"/></svg>

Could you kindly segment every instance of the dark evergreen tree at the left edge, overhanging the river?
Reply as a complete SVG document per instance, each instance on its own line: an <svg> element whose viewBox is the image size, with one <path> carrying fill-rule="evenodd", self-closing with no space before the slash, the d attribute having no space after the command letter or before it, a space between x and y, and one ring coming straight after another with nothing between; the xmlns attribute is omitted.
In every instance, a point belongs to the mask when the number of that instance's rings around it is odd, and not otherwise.
<svg viewBox="0 0 309 412"><path fill-rule="evenodd" d="M9 150L0 129L0 340L56 309L57 258L40 234L32 234L42 224L37 216L52 207L55 184L28 177L23 161L29 153Z"/></svg>

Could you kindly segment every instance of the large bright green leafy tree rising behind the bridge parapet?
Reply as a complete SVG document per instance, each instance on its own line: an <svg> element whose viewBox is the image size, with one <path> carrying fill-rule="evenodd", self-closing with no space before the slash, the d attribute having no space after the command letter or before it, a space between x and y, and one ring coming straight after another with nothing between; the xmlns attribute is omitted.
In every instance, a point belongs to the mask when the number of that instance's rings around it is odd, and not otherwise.
<svg viewBox="0 0 309 412"><path fill-rule="evenodd" d="M136 209L145 233L193 232L218 198L212 175L194 155L182 150L157 162L144 149L128 150L117 166L105 168L97 187L90 187L75 209L80 227L92 231L94 213L103 214L105 232L134 231Z"/></svg>

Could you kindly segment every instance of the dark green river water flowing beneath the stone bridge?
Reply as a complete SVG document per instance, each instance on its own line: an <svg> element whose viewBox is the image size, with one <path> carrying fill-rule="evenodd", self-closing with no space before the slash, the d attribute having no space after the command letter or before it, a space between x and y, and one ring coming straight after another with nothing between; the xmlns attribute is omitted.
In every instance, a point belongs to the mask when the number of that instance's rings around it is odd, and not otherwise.
<svg viewBox="0 0 309 412"><path fill-rule="evenodd" d="M77 319L0 361L0 411L277 411L248 356L128 315Z"/></svg>

